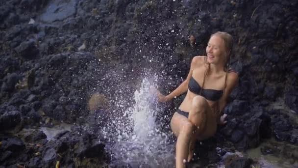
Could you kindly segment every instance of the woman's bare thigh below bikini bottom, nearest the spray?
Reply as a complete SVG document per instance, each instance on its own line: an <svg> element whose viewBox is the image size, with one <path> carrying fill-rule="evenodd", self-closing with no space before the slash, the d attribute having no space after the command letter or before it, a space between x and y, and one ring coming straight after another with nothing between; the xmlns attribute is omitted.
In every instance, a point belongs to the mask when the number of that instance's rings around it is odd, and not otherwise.
<svg viewBox="0 0 298 168"><path fill-rule="evenodd" d="M186 122L190 122L188 118L186 118L184 115L181 115L177 112L174 113L171 119L171 129L176 137L178 137L180 129L182 128L183 124L185 124Z"/></svg>

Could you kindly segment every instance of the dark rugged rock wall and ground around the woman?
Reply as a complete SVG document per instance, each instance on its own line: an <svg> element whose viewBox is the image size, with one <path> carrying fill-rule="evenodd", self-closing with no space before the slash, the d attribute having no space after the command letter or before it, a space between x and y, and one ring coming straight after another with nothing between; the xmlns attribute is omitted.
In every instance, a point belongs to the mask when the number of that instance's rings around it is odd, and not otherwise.
<svg viewBox="0 0 298 168"><path fill-rule="evenodd" d="M1 1L0 166L53 167L59 161L92 167L108 160L104 151L93 153L104 146L96 142L96 131L81 136L77 128L52 141L41 132L15 134L23 127L52 126L54 120L88 123L95 117L88 115L86 102L95 92L110 100L113 109L107 111L121 114L133 102L144 68L160 77L163 92L173 90L185 78L191 56L203 55L218 30L234 37L230 64L240 83L217 140L231 141L238 150L271 136L297 145L297 6L293 0ZM197 38L195 50L188 45L190 34ZM115 106L115 97L126 103ZM171 116L179 101L160 115ZM276 102L283 108L274 108ZM170 117L157 121L169 128ZM104 124L98 119L88 124L99 127L98 122ZM239 159L234 167L248 163Z"/></svg>

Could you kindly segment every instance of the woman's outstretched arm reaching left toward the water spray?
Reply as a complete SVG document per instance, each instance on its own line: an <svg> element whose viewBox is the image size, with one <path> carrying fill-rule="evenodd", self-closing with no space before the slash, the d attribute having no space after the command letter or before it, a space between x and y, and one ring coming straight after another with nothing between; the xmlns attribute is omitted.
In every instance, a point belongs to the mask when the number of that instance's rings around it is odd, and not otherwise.
<svg viewBox="0 0 298 168"><path fill-rule="evenodd" d="M195 56L191 62L190 70L187 75L187 78L185 81L183 81L173 92L168 94L167 96L163 96L161 94L158 95L159 101L161 102L167 102L172 100L174 97L180 96L181 94L185 93L188 90L188 83L193 75L193 70L195 67L198 66L198 63L201 62L201 56Z"/></svg>

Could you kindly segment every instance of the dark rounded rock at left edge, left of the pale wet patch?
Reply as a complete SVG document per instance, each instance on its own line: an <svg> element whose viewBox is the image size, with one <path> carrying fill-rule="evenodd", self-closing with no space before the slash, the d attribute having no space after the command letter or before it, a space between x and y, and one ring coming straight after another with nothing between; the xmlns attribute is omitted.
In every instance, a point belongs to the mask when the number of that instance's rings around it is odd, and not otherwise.
<svg viewBox="0 0 298 168"><path fill-rule="evenodd" d="M21 112L5 112L0 116L0 131L16 127L21 122Z"/></svg>

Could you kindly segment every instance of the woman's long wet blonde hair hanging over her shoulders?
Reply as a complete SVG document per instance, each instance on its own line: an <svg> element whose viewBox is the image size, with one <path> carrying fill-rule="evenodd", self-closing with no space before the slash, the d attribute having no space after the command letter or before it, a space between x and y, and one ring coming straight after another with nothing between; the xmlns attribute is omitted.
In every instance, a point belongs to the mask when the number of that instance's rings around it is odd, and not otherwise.
<svg viewBox="0 0 298 168"><path fill-rule="evenodd" d="M233 37L227 33L227 32L223 32L223 31L218 31L214 34L211 34L210 38L213 36L219 36L221 39L224 40L224 49L225 49L225 55L224 55L224 71L225 71L225 79L224 79L224 88L226 87L226 76L227 73L229 71L229 65L230 65L230 55L232 53L232 48L233 48ZM207 58L205 57L205 65L207 66L207 69L204 73L204 79L203 79L203 84L202 84L202 88L204 87L204 83L205 83L205 78L208 75L208 73L210 72L210 63L207 62ZM218 103L216 105L216 111L219 111L219 107L218 107ZM221 113L221 112L219 112Z"/></svg>

